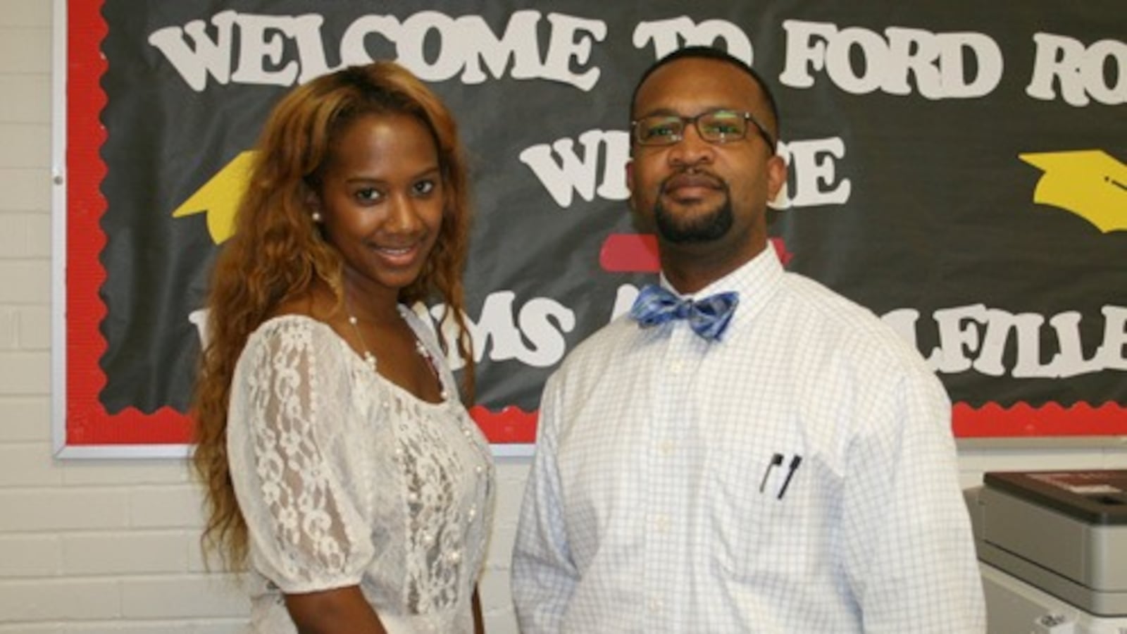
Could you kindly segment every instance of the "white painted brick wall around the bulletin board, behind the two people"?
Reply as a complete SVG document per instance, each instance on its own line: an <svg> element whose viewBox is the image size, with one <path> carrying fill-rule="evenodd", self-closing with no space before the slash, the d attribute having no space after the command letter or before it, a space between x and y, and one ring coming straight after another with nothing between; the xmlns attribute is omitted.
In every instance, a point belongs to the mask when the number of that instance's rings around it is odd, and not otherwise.
<svg viewBox="0 0 1127 634"><path fill-rule="evenodd" d="M0 634L230 634L246 600L199 558L199 496L179 460L51 455L51 2L0 0ZM1127 449L976 449L990 469L1127 468ZM481 583L515 634L508 552L527 460L500 460Z"/></svg>

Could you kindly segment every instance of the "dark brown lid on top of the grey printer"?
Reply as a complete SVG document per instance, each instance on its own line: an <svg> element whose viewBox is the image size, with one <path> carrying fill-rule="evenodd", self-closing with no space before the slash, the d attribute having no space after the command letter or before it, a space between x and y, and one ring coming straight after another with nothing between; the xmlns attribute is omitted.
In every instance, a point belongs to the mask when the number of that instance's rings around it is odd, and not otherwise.
<svg viewBox="0 0 1127 634"><path fill-rule="evenodd" d="M987 472L983 483L1092 525L1127 525L1127 470Z"/></svg>

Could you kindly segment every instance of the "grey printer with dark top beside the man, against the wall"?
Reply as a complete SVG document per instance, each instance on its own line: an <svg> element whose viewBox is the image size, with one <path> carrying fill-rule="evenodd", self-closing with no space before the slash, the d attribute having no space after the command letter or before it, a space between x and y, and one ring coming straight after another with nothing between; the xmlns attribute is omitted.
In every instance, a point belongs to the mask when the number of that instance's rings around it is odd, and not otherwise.
<svg viewBox="0 0 1127 634"><path fill-rule="evenodd" d="M1127 470L991 472L965 493L992 634L1127 634Z"/></svg>

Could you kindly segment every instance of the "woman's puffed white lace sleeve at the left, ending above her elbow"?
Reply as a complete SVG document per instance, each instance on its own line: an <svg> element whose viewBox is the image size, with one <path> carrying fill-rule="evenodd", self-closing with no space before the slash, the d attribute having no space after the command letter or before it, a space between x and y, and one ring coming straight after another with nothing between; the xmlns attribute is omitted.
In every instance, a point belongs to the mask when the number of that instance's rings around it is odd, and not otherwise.
<svg viewBox="0 0 1127 634"><path fill-rule="evenodd" d="M266 323L236 369L228 447L252 565L284 592L360 582L373 546L341 474L348 370L307 318Z"/></svg>

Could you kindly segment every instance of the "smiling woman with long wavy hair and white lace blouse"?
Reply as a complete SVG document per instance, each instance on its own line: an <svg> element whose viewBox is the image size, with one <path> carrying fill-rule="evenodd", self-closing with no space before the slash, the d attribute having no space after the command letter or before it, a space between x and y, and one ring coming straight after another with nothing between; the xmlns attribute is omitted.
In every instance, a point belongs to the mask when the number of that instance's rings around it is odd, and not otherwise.
<svg viewBox="0 0 1127 634"><path fill-rule="evenodd" d="M489 449L407 307L442 300L472 389L453 118L376 62L274 108L215 266L196 389L205 545L256 632L481 632Z"/></svg>

